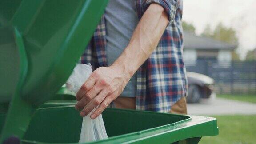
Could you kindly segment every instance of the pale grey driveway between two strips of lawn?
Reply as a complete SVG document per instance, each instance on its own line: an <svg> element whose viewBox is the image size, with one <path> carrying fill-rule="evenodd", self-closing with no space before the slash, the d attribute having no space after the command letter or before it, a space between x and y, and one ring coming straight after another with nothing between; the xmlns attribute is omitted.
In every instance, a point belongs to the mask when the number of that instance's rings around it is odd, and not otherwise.
<svg viewBox="0 0 256 144"><path fill-rule="evenodd" d="M256 104L222 98L203 99L199 104L188 104L189 115L256 114Z"/></svg>

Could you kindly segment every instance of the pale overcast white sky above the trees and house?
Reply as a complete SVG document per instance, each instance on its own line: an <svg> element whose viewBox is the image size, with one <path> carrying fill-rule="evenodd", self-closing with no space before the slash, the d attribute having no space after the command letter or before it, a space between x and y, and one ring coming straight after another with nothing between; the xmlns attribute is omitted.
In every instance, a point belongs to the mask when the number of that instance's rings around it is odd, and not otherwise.
<svg viewBox="0 0 256 144"><path fill-rule="evenodd" d="M256 0L183 0L183 20L192 23L200 35L207 24L214 29L220 22L236 30L236 52L244 59L256 48Z"/></svg>

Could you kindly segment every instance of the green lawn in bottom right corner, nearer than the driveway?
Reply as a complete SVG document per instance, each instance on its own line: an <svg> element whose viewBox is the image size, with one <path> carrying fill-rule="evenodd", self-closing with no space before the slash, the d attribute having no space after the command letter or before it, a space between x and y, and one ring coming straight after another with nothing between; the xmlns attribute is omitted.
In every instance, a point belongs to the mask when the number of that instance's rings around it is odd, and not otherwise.
<svg viewBox="0 0 256 144"><path fill-rule="evenodd" d="M256 115L212 117L217 118L219 135L203 137L199 144L256 144Z"/></svg>

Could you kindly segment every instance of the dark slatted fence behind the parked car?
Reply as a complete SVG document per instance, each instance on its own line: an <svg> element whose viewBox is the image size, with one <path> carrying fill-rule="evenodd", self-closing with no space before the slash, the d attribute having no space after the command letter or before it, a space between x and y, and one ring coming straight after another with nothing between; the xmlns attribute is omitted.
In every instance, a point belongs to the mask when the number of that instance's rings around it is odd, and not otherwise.
<svg viewBox="0 0 256 144"><path fill-rule="evenodd" d="M215 80L215 92L220 94L255 94L256 61L219 64L216 61L198 60L187 65L188 72L197 72Z"/></svg>

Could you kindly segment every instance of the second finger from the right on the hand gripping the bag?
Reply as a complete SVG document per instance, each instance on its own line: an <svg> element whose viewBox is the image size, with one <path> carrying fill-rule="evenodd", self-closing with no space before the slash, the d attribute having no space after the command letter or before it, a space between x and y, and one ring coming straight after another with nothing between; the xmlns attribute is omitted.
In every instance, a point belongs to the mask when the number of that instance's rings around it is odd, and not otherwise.
<svg viewBox="0 0 256 144"><path fill-rule="evenodd" d="M107 92L105 92L104 90L101 91L98 96L96 96L93 100L91 100L91 102L88 105L84 107L84 109L80 112L80 116L86 116L90 112L92 112L94 108L100 105L100 103L105 99L107 95Z"/></svg>

